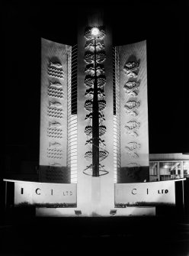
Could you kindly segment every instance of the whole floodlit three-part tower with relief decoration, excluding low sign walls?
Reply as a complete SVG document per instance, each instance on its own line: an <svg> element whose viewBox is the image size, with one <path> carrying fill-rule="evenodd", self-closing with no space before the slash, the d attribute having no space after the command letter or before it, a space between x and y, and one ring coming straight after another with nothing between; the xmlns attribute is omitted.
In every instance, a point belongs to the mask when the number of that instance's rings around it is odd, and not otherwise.
<svg viewBox="0 0 189 256"><path fill-rule="evenodd" d="M78 44L42 40L40 181L77 183L82 215L110 215L114 183L149 180L146 41L113 46L101 11Z"/></svg>

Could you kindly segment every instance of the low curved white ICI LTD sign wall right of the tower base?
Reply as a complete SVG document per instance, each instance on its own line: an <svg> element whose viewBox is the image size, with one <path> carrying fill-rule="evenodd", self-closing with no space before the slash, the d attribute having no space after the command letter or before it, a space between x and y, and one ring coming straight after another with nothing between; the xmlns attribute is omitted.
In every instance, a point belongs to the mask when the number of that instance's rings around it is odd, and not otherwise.
<svg viewBox="0 0 189 256"><path fill-rule="evenodd" d="M115 184L115 206L175 205L175 180Z"/></svg>

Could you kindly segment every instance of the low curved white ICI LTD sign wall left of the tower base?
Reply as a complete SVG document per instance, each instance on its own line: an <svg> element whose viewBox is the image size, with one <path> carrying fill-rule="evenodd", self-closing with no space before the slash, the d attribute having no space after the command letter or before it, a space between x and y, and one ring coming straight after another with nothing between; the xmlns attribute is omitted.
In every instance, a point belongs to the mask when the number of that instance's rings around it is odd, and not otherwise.
<svg viewBox="0 0 189 256"><path fill-rule="evenodd" d="M15 182L14 205L76 207L77 185Z"/></svg>

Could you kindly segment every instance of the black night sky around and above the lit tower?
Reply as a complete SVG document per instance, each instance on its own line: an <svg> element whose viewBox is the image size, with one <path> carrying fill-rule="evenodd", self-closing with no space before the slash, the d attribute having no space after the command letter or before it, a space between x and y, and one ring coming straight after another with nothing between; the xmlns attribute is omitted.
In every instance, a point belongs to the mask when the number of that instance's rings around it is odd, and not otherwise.
<svg viewBox="0 0 189 256"><path fill-rule="evenodd" d="M149 153L189 152L187 81L188 5L184 1L114 1L104 5L114 44L147 40ZM78 18L90 2L7 2L5 45L5 153L38 160L40 37L77 44ZM119 11L118 11L119 10ZM18 153L19 152L19 153ZM19 156L20 154L20 156Z"/></svg>

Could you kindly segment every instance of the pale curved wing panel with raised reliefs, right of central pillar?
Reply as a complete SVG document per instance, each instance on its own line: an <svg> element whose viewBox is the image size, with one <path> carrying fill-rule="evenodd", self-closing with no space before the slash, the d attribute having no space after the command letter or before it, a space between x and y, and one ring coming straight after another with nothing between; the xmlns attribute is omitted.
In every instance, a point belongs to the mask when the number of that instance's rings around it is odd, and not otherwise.
<svg viewBox="0 0 189 256"><path fill-rule="evenodd" d="M117 48L122 106L119 182L130 182L130 178L139 177L132 172L136 172L136 169L139 172L149 166L146 41ZM121 181L121 177L125 178Z"/></svg>

